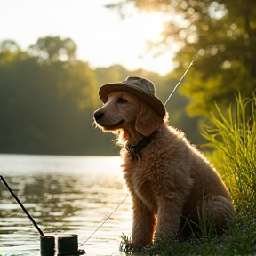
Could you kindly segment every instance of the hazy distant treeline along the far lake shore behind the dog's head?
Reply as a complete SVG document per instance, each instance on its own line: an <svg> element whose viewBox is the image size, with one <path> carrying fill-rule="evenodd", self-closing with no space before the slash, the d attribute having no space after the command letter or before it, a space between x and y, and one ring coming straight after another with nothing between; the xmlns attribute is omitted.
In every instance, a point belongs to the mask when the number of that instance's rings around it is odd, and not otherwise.
<svg viewBox="0 0 256 256"><path fill-rule="evenodd" d="M116 155L115 139L93 127L101 105L102 84L145 76L166 100L177 80L122 66L96 68L77 60L69 38L47 36L22 51L16 42L0 42L0 153ZM200 143L196 118L185 111L188 99L176 92L167 105L171 124ZM111 142L112 141L112 142Z"/></svg>

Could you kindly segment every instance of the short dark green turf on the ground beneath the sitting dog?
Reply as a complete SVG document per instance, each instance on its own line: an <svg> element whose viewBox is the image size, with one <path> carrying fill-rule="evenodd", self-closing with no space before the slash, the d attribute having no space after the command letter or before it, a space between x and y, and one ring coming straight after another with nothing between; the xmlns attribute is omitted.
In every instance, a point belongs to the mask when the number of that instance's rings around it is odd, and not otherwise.
<svg viewBox="0 0 256 256"><path fill-rule="evenodd" d="M245 217L245 216L244 216ZM246 216L248 217L248 216ZM252 217L252 216L251 216ZM124 242L124 241L123 241ZM123 247L124 250L124 247ZM125 252L125 250L124 250ZM256 254L256 220L237 220L233 228L222 236L189 237L185 241L150 244L140 251L126 251L127 255L148 256L237 256Z"/></svg>

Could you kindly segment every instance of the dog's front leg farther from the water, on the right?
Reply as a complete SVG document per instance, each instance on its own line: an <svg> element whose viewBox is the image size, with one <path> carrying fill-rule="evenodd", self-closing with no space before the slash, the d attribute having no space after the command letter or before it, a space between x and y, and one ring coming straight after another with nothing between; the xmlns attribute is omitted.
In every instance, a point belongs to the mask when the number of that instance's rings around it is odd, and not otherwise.
<svg viewBox="0 0 256 256"><path fill-rule="evenodd" d="M172 240L179 231L183 200L175 194L165 195L158 200L156 242Z"/></svg>

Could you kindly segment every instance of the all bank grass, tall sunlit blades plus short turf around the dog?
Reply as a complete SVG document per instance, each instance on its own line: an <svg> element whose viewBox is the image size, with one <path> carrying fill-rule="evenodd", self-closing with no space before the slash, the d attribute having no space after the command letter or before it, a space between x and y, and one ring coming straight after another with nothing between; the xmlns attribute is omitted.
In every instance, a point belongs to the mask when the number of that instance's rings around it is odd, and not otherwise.
<svg viewBox="0 0 256 256"><path fill-rule="evenodd" d="M226 112L216 105L212 124L204 125L203 136L209 141L205 146L214 148L207 156L220 172L234 200L236 220L232 228L216 236L205 227L204 212L201 212L201 235L196 234L185 241L150 244L140 252L127 254L256 255L256 96L243 100L238 94L236 106L230 106ZM124 234L121 238L124 249L125 243L132 238Z"/></svg>

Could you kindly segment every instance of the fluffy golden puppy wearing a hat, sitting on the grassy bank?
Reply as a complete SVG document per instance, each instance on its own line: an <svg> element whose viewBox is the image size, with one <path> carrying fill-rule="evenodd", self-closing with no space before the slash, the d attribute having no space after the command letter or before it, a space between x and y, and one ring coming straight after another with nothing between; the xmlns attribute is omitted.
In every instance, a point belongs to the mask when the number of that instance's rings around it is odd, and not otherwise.
<svg viewBox="0 0 256 256"><path fill-rule="evenodd" d="M124 180L132 196L132 243L172 240L184 222L214 221L218 234L229 227L235 209L228 190L204 155L183 132L168 126L168 112L146 78L100 87L103 107L93 114L104 132L122 146Z"/></svg>

